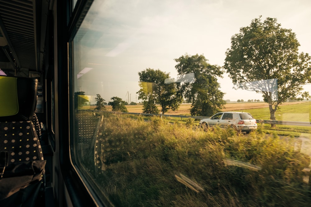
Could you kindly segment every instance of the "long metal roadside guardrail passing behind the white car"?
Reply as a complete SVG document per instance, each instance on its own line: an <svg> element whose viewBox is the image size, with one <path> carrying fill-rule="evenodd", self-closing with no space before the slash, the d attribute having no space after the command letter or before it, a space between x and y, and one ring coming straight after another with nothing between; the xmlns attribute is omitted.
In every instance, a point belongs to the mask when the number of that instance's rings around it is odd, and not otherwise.
<svg viewBox="0 0 311 207"><path fill-rule="evenodd" d="M95 110L92 110L95 112ZM132 114L132 115L140 115L140 116L159 116L159 117L176 117L176 118L183 118L188 119L206 119L209 116L182 116L182 115L169 115L169 114L146 114L146 113L132 113L132 112L111 112L111 113L119 113L119 114ZM257 123L260 124L281 124L281 125L295 125L295 126L311 126L311 122L302 122L302 121L278 121L278 120L262 120L256 119Z"/></svg>

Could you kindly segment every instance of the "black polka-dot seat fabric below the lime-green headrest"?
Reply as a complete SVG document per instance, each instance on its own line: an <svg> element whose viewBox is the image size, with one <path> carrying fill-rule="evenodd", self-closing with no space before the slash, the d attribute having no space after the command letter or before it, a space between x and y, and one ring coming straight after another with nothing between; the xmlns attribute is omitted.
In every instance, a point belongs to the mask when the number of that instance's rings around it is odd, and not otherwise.
<svg viewBox="0 0 311 207"><path fill-rule="evenodd" d="M4 164L0 168L0 203L20 200L27 206L27 203L35 202L35 196L25 197L22 194L28 187L30 192L35 191L35 195L42 184L46 164L35 127L31 121L22 121L0 122L0 128L0 151Z"/></svg>

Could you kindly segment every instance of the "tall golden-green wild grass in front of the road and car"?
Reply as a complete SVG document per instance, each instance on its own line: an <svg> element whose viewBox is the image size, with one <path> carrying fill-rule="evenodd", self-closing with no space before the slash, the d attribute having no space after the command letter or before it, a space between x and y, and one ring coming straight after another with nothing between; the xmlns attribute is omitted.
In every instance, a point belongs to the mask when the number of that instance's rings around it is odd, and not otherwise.
<svg viewBox="0 0 311 207"><path fill-rule="evenodd" d="M308 206L295 139L109 115L95 182L116 206ZM92 158L90 158L92 159ZM228 164L226 160L238 164ZM88 162L90 163L90 162ZM254 170L247 166L256 166ZM245 167L246 166L246 167ZM189 184L190 183L190 184Z"/></svg>

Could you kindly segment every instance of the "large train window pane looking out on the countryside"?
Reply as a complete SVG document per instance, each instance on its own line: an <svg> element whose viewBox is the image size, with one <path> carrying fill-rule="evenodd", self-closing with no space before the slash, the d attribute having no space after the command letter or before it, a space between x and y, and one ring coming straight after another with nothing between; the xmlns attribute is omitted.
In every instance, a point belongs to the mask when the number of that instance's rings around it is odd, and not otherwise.
<svg viewBox="0 0 311 207"><path fill-rule="evenodd" d="M307 206L310 9L95 0L71 57L85 182L115 206ZM257 123L200 127L228 111Z"/></svg>

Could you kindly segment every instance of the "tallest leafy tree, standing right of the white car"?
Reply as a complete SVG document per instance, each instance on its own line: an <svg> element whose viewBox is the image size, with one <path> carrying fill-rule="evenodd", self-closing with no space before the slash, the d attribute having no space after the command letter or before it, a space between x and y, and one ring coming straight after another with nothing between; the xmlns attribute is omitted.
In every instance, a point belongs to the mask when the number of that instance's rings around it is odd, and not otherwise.
<svg viewBox="0 0 311 207"><path fill-rule="evenodd" d="M310 98L308 92L302 92L303 85L311 83L310 56L299 54L299 46L291 29L281 28L276 18L269 17L263 22L261 16L253 19L231 37L224 68L235 89L262 93L271 120L285 100Z"/></svg>

